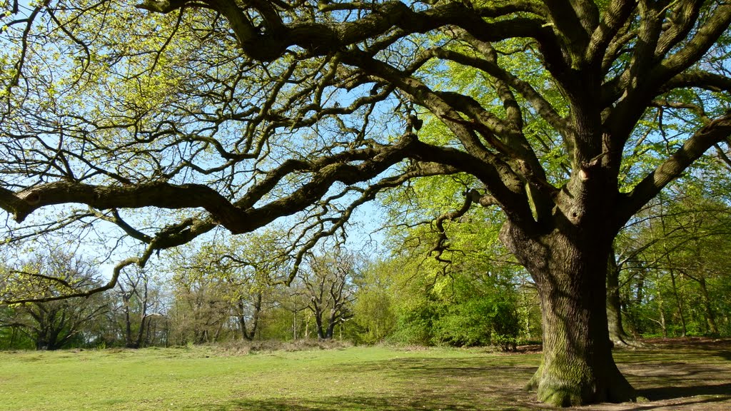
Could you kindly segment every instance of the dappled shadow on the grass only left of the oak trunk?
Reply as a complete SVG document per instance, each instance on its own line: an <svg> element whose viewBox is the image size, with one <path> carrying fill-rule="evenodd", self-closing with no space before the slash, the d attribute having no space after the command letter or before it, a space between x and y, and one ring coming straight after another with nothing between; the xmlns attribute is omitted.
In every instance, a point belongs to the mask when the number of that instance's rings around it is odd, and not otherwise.
<svg viewBox="0 0 731 411"><path fill-rule="evenodd" d="M525 360L511 361L510 357L395 358L338 366L319 375L327 380L336 380L338 374L376 376L379 381L366 381L367 386L371 382L372 393L360 390L352 394L343 391L327 394L327 390L323 390L325 393L313 392L306 398L242 398L185 410L545 410L534 400L534 393L523 390L536 369L536 366L528 366Z"/></svg>

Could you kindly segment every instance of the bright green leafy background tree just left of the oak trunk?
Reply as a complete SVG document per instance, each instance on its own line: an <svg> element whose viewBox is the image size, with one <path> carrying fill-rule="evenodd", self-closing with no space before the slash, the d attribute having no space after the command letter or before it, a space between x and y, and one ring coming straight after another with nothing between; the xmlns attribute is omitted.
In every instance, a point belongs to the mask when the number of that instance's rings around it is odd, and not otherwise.
<svg viewBox="0 0 731 411"><path fill-rule="evenodd" d="M383 200L401 302L396 339L506 350L539 339L534 284L498 238L504 216L493 208L441 214L461 208L471 180L422 178Z"/></svg>

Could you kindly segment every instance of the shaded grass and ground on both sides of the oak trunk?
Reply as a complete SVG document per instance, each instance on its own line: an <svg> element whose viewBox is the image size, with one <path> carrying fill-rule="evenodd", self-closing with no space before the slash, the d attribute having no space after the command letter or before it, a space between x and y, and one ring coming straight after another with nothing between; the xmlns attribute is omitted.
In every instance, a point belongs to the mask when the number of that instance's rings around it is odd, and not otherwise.
<svg viewBox="0 0 731 411"><path fill-rule="evenodd" d="M637 394L652 402L614 404L617 407L592 410L727 410L731 404L731 367L719 363L728 345L694 350L660 349L627 352L620 365ZM670 360L672 358L672 360ZM669 361L670 360L670 361ZM687 362L686 362L687 361ZM247 399L242 391L238 399L218 404L200 404L186 411L534 411L547 410L535 401L535 393L523 386L537 369L539 357L526 355L485 356L473 358L395 358L338 365L318 377L337 380L338 375L363 375L375 378L370 388L348 393L322 392L314 388L302 398L272 396ZM366 377L368 376L368 377ZM332 387L325 387L332 388ZM368 391L370 390L370 391ZM258 393L261 394L262 393ZM607 404L608 405L608 404ZM580 407L579 409L584 409Z"/></svg>

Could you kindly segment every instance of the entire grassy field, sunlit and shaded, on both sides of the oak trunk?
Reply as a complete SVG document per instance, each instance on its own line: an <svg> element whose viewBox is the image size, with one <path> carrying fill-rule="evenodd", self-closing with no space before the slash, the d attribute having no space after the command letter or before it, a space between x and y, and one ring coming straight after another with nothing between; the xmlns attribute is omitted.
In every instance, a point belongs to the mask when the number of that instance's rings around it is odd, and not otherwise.
<svg viewBox="0 0 731 411"><path fill-rule="evenodd" d="M731 410L731 343L618 352L648 401L591 410ZM213 347L0 352L0 410L541 410L536 352Z"/></svg>

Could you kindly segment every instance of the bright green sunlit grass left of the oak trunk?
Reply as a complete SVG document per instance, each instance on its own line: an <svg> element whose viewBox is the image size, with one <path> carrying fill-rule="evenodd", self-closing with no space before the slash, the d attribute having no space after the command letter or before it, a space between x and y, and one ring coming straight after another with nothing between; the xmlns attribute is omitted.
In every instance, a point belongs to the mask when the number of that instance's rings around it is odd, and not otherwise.
<svg viewBox="0 0 731 411"><path fill-rule="evenodd" d="M4 352L0 409L472 410L493 401L480 383L486 369L509 367L511 377L527 380L537 361L485 350L386 347L248 355L210 347Z"/></svg>

